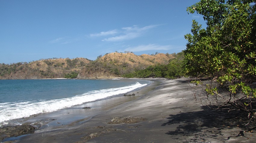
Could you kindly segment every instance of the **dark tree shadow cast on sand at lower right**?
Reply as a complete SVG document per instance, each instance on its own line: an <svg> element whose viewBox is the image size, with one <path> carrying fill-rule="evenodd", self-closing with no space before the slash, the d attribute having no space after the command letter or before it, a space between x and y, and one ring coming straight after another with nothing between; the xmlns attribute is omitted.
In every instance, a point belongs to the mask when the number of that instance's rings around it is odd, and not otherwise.
<svg viewBox="0 0 256 143"><path fill-rule="evenodd" d="M256 138L255 120L245 126L249 121L246 113L228 113L226 110L212 110L207 106L201 108L197 112L169 115L169 121L161 126L177 126L166 134L183 142L226 142L231 138L237 141L237 137L242 140Z"/></svg>

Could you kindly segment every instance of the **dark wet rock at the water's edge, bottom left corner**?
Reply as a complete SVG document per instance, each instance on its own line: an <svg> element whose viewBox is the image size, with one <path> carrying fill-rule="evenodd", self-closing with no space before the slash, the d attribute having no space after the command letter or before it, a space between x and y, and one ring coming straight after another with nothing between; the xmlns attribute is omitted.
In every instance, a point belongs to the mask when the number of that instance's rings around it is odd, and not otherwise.
<svg viewBox="0 0 256 143"><path fill-rule="evenodd" d="M17 126L4 126L0 128L0 141L11 136L33 133L33 130L35 130L35 127L26 123Z"/></svg>

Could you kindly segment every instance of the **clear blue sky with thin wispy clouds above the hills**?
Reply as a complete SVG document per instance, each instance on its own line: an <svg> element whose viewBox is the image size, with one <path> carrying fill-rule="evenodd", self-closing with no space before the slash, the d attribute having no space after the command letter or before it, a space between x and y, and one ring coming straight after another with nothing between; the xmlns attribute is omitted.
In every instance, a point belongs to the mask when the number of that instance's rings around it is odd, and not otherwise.
<svg viewBox="0 0 256 143"><path fill-rule="evenodd" d="M177 53L199 0L0 0L0 63Z"/></svg>

